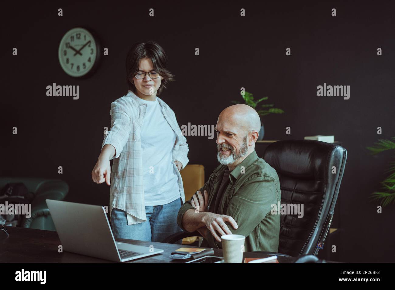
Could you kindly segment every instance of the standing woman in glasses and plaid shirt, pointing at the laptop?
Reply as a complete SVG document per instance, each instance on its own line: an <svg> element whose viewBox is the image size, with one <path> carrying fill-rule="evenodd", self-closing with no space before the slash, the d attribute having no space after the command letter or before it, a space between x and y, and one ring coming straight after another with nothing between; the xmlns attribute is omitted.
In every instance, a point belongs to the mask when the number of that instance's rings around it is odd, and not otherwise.
<svg viewBox="0 0 395 290"><path fill-rule="evenodd" d="M177 213L185 197L179 170L188 163L189 149L173 110L157 97L174 77L166 65L158 43L133 45L126 57L128 93L111 103L111 128L92 180L110 185L116 238L161 242L181 231Z"/></svg>

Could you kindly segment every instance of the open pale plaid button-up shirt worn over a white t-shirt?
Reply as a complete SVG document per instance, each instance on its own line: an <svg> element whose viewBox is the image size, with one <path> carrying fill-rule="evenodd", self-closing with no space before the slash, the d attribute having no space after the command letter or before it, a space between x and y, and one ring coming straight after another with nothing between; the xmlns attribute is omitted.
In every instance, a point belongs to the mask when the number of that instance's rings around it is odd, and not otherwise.
<svg viewBox="0 0 395 290"><path fill-rule="evenodd" d="M188 144L170 107L156 97L162 112L176 134L173 161L178 160L184 168L188 163ZM126 211L128 225L147 221L144 205L143 161L140 129L144 120L147 104L143 103L131 90L128 94L111 103L111 128L103 140L115 147L113 168L111 169L110 215L113 208ZM182 202L185 202L182 178L177 166L173 167L178 175ZM181 168L181 169L182 169Z"/></svg>

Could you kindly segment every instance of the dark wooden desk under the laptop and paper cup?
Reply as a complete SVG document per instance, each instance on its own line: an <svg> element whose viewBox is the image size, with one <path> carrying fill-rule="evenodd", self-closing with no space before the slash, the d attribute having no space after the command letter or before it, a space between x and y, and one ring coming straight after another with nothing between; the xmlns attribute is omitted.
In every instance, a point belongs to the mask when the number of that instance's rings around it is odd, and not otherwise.
<svg viewBox="0 0 395 290"><path fill-rule="evenodd" d="M58 233L50 230L36 230L32 228L18 228L6 226L9 236L0 232L0 262L1 263L112 263L111 261L93 258L64 251L58 253L61 245ZM132 239L119 239L125 243L142 245L163 249L164 253L141 258L126 263L183 263L184 261L171 260L171 252L181 245L157 243L150 241L137 241ZM222 250L214 249L215 256L222 257ZM266 257L265 254L245 253L245 257ZM278 257L280 263L290 263L296 258Z"/></svg>

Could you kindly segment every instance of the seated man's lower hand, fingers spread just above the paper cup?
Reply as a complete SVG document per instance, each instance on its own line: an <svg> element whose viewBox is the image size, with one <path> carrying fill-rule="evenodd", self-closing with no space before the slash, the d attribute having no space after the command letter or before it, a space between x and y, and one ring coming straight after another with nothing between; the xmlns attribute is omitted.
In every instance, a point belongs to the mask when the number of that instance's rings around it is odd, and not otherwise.
<svg viewBox="0 0 395 290"><path fill-rule="evenodd" d="M209 229L213 237L217 241L221 241L220 236L229 234L232 232L229 230L228 226L225 222L229 222L233 228L238 228L237 223L233 219L233 217L229 215L218 215L216 213L207 212L204 214L203 223L205 223L206 227ZM218 236L218 234L219 236Z"/></svg>

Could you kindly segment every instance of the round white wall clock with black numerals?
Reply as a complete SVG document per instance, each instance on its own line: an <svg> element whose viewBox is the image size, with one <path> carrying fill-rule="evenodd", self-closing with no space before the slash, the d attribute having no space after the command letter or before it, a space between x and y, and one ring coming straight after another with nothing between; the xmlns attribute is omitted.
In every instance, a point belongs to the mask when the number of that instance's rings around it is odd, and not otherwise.
<svg viewBox="0 0 395 290"><path fill-rule="evenodd" d="M82 77L89 73L97 62L98 43L85 28L70 29L59 45L59 62L71 77Z"/></svg>

